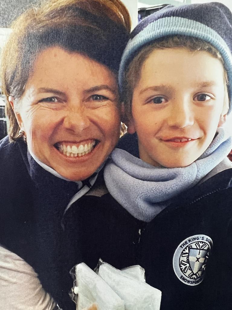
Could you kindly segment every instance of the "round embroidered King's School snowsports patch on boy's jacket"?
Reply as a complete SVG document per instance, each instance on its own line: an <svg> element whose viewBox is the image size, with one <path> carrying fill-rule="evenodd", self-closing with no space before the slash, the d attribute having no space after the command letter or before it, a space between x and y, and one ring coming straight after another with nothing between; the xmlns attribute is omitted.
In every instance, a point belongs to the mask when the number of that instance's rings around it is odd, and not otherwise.
<svg viewBox="0 0 232 310"><path fill-rule="evenodd" d="M203 280L212 246L212 239L205 235L191 236L178 245L173 256L173 268L180 281L197 285Z"/></svg>

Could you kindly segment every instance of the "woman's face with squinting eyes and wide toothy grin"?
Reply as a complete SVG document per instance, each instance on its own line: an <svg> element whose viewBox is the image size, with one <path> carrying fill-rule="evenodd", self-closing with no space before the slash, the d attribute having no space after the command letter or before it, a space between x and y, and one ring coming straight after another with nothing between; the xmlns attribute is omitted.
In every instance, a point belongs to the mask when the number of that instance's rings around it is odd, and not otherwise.
<svg viewBox="0 0 232 310"><path fill-rule="evenodd" d="M15 113L30 152L63 177L84 180L119 137L116 77L79 53L47 48L35 62Z"/></svg>

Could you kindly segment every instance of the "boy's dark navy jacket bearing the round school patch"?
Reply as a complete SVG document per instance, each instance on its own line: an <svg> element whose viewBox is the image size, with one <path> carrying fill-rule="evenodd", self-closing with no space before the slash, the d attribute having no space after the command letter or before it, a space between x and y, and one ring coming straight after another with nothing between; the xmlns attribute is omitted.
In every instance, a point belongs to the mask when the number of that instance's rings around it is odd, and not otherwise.
<svg viewBox="0 0 232 310"><path fill-rule="evenodd" d="M231 181L232 169L214 175L174 197L149 223L135 219L109 193L83 196L67 211L66 225L73 230L68 239L76 251L68 256L82 258L91 268L96 267L99 257L118 269L139 264L145 269L146 282L162 292L161 310L231 310ZM199 235L213 241L201 283L199 275L193 275L193 280L183 278L188 266L182 278L173 267L179 245ZM87 256L83 256L85 243L91 246ZM189 246L196 247L191 243L180 249L187 251ZM199 242L199 246L204 248L205 244ZM175 262L180 257L181 253ZM187 284L194 279L197 285Z"/></svg>

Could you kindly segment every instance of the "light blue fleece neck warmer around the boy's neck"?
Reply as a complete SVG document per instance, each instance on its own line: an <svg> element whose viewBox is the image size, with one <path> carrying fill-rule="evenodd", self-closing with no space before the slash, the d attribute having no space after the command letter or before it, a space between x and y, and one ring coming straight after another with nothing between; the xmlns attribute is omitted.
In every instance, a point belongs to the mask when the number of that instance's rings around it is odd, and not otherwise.
<svg viewBox="0 0 232 310"><path fill-rule="evenodd" d="M231 136L220 127L207 150L184 168L154 167L116 148L105 167L105 184L131 215L149 222L170 204L168 200L196 185L216 167L231 147Z"/></svg>

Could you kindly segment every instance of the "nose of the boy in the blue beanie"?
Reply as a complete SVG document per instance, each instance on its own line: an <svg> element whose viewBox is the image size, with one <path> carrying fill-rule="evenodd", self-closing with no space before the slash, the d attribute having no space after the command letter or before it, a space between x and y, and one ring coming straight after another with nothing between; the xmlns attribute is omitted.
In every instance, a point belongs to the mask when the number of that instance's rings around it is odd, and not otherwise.
<svg viewBox="0 0 232 310"><path fill-rule="evenodd" d="M194 111L190 100L183 99L173 102L168 117L169 126L184 128L194 124Z"/></svg>

